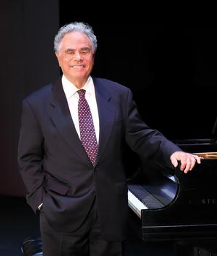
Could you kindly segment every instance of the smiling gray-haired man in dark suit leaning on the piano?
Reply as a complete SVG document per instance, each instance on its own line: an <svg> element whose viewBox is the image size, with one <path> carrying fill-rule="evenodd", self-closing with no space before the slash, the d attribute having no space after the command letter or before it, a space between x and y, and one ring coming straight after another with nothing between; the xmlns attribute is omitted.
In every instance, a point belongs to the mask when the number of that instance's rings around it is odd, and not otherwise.
<svg viewBox="0 0 217 256"><path fill-rule="evenodd" d="M122 255L124 140L143 159L180 161L185 173L200 163L141 120L130 89L90 76L96 48L90 26L63 26L55 37L63 77L23 101L18 161L44 256Z"/></svg>

